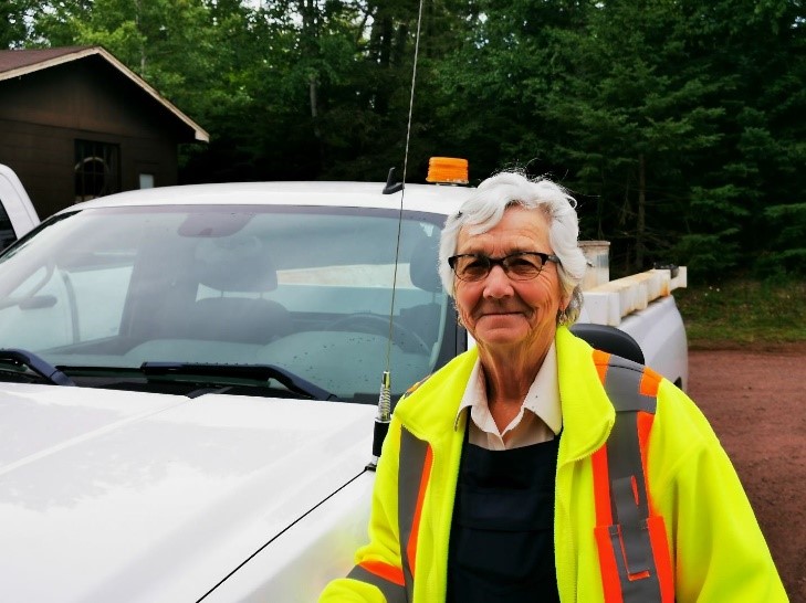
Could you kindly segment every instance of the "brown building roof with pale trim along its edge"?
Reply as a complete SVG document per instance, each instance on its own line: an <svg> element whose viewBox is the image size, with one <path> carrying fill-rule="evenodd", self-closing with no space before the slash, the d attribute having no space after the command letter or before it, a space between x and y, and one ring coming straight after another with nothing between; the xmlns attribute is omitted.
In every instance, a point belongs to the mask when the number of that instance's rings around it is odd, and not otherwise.
<svg viewBox="0 0 806 603"><path fill-rule="evenodd" d="M115 59L101 46L62 46L57 49L6 50L0 51L0 82L20 77L40 70L54 67L87 56L100 56L117 68L137 86L143 88L157 103L172 113L179 120L193 130L196 140L210 141L210 135L196 121L180 112L172 103L154 89L145 80Z"/></svg>

